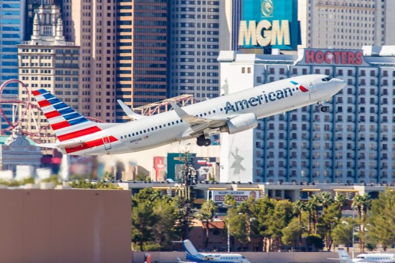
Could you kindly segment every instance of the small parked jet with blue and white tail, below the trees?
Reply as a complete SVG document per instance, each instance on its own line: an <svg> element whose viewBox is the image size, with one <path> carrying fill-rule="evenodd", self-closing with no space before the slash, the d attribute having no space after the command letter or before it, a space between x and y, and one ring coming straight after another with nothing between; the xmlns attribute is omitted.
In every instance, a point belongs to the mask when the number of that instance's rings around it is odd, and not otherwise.
<svg viewBox="0 0 395 263"><path fill-rule="evenodd" d="M248 259L246 259L241 254L212 254L212 253L199 253L193 246L190 240L181 241L185 252L187 253L186 259L192 260L192 262L222 262L222 263L250 263ZM190 261L181 261L179 257L177 257L178 263L191 263Z"/></svg>

